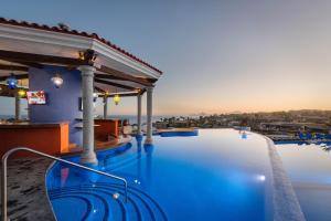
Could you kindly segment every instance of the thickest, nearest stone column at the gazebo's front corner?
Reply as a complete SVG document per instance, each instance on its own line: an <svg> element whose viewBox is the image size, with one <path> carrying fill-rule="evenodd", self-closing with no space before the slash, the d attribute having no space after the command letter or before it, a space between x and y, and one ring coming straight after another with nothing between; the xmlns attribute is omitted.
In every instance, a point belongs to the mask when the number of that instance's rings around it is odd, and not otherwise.
<svg viewBox="0 0 331 221"><path fill-rule="evenodd" d="M94 115L93 115L93 81L95 67L79 66L82 72L82 98L83 98L83 154L82 164L97 164L94 151Z"/></svg>

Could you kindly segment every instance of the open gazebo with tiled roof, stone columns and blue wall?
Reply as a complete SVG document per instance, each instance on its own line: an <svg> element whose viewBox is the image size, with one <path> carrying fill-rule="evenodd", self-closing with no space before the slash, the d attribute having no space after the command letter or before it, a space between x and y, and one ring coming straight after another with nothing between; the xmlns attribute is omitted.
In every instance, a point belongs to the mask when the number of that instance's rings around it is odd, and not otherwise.
<svg viewBox="0 0 331 221"><path fill-rule="evenodd" d="M11 74L20 80L15 90L7 85ZM0 18L0 96L17 97L15 117L20 119L20 87L24 92L43 91L47 102L29 104L29 125L68 122L70 141L83 147L82 162L97 161L94 94L104 97L105 118L108 97L137 96L138 135L141 135L141 96L147 93L145 143L152 144L152 93L161 74L96 33L79 32L65 24L49 27ZM54 86L51 81L54 77L63 81L61 87ZM75 126L79 120L82 128ZM0 136L1 131L0 126Z"/></svg>

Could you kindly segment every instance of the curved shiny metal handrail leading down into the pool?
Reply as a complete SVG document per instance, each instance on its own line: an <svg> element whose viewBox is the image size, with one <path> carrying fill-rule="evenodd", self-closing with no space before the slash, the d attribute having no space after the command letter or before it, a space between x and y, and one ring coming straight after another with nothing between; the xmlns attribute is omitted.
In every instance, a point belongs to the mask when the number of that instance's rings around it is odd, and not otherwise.
<svg viewBox="0 0 331 221"><path fill-rule="evenodd" d="M33 152L33 154L36 154L36 155L56 160L56 161L61 161L61 162L64 162L64 164L67 164L67 165L74 166L74 167L78 167L78 168L86 169L86 170L89 170L89 171L93 171L93 172L96 172L96 173L99 173L99 175L104 175L106 177L110 177L110 178L120 180L120 181L124 182L124 186L125 186L125 202L128 201L128 182L125 178L117 177L115 175L103 172L103 171L99 171L99 170L96 170L96 169L92 169L89 167L85 167L85 166L82 166L82 165L78 165L78 164L75 164L75 162L71 162L71 161L67 161L65 159L53 157L51 155L47 155L47 154L44 154L44 152L41 152L41 151L36 151L34 149L30 149L30 148L26 148L26 147L17 147L17 148L8 150L2 156L2 159L1 159L1 166L2 166L1 167L1 169L2 169L2 172L1 172L1 202L2 202L2 208L1 208L1 213L2 214L1 214L1 217L2 217L2 219L1 220L2 221L8 221L8 218L7 218L7 159L11 154L13 154L15 151L21 151L21 150L30 151L30 152Z"/></svg>

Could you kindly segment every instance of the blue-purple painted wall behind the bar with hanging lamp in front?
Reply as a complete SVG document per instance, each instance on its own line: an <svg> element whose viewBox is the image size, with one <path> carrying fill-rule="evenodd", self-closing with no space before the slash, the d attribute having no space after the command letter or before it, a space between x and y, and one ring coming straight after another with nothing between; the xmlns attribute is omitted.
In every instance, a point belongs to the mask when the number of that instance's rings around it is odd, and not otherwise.
<svg viewBox="0 0 331 221"><path fill-rule="evenodd" d="M61 74L64 83L55 88L51 78ZM75 128L81 124L76 118L82 118L79 112L79 97L82 97L82 77L77 70L68 71L65 67L45 66L42 70L29 70L30 91L44 91L46 105L30 105L30 119L32 123L70 122L70 141L82 146L83 131Z"/></svg>

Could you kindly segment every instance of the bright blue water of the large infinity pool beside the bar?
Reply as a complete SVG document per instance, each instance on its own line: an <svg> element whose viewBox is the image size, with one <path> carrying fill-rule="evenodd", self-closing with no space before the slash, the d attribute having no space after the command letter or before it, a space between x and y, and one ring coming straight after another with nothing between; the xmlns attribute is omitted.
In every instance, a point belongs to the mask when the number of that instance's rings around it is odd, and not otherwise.
<svg viewBox="0 0 331 221"><path fill-rule="evenodd" d="M206 129L153 139L98 152L100 170L128 180L127 203L120 182L55 164L46 185L57 220L273 220L264 137Z"/></svg>

